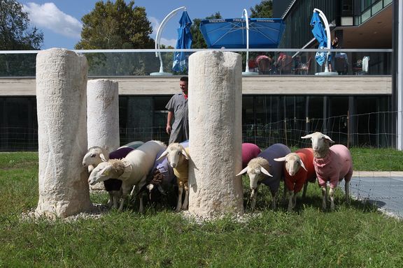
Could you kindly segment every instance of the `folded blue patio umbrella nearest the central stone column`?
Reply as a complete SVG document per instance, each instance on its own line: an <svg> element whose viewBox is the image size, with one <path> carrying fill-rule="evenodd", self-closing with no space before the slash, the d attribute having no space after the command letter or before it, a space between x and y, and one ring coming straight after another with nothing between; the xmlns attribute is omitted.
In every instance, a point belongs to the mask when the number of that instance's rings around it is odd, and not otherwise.
<svg viewBox="0 0 403 268"><path fill-rule="evenodd" d="M182 13L181 20L179 20L181 26L178 28L178 40L176 41L177 49L188 49L192 47L192 33L190 32L190 25L192 20L185 10ZM188 69L189 52L175 52L174 64L172 64L172 70L181 72Z"/></svg>

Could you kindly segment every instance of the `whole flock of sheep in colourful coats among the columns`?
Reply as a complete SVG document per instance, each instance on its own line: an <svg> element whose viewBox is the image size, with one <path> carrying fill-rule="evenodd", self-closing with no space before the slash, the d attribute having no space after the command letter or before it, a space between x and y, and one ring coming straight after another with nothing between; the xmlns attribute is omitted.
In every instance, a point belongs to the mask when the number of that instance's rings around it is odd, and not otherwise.
<svg viewBox="0 0 403 268"><path fill-rule="evenodd" d="M353 175L350 151L341 144L330 146L334 141L316 132L302 137L311 139L312 147L295 152L284 144L272 144L263 151L255 144L242 144L243 170L250 181L251 204L255 208L256 195L260 184L269 187L272 207L276 209L276 198L281 181L284 181L284 197L288 193L288 211L296 204L297 193L303 190L303 197L309 182L318 179L322 190L322 207L327 207L327 184L330 184L330 209L334 209L334 190L339 181L345 179L346 201L349 196L349 181ZM100 147L88 149L83 165L88 168L90 185L104 181L109 193L108 206L119 211L123 209L127 195L139 196L139 211L143 212L143 195L153 191L165 193L164 186L176 184L178 197L176 211L188 209L188 161L191 154L188 142L172 143L167 147L163 142L132 142L115 151L104 151ZM185 192L185 196L183 196Z"/></svg>

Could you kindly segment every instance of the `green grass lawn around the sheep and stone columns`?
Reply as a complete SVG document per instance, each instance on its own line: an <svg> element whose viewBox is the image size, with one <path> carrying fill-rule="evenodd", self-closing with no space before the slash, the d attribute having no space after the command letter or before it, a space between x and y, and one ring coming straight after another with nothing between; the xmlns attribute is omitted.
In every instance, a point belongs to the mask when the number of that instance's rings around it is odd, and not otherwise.
<svg viewBox="0 0 403 268"><path fill-rule="evenodd" d="M355 170L403 170L401 152L368 150L351 150ZM244 185L248 206L246 180ZM148 206L138 214L135 205L98 219L22 221L22 212L37 202L37 153L0 153L0 267L403 266L402 221L369 204L346 204L340 190L335 211L322 211L316 184L292 213L285 204L269 209L270 194L262 186L256 213L248 212L243 223L190 223L168 207Z"/></svg>

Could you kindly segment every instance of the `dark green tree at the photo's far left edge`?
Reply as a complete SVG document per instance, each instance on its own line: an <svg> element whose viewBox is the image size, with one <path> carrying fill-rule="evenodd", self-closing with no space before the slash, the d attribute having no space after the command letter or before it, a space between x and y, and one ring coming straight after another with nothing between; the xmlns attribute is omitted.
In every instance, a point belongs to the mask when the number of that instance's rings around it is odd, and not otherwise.
<svg viewBox="0 0 403 268"><path fill-rule="evenodd" d="M43 34L29 28L28 14L14 0L0 0L0 50L39 50ZM35 75L36 54L1 54L0 75Z"/></svg>

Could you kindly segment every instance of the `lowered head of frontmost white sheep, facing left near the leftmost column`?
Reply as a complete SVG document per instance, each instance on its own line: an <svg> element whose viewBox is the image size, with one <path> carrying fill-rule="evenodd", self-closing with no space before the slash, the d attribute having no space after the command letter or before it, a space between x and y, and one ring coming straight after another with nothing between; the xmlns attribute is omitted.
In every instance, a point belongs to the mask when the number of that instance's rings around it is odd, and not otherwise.
<svg viewBox="0 0 403 268"><path fill-rule="evenodd" d="M118 159L112 159L108 162L102 162L92 170L88 178L88 184L94 185L100 181L106 181L111 178L118 178L125 171L125 165Z"/></svg>

